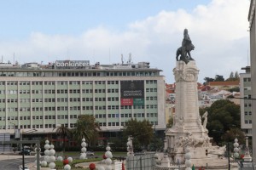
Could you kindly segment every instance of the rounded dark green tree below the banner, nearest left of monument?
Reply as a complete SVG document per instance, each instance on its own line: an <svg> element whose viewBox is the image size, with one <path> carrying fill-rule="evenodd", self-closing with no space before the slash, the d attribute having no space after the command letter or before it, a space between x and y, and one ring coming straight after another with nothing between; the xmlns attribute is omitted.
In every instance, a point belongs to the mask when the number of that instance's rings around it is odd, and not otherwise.
<svg viewBox="0 0 256 170"><path fill-rule="evenodd" d="M133 145L137 150L148 146L154 136L152 124L145 119L143 121L131 119L125 122L125 126L122 131L125 139L128 139L128 136L133 137Z"/></svg>

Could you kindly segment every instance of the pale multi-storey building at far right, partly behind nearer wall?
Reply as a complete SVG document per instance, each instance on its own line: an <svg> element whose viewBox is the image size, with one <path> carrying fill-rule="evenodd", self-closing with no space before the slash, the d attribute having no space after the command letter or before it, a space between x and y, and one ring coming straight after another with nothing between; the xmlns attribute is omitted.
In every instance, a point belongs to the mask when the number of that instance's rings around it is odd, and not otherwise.
<svg viewBox="0 0 256 170"><path fill-rule="evenodd" d="M241 129L247 136L252 136L253 115L252 115L252 88L250 66L243 67L245 73L240 74L240 93L241 93Z"/></svg>

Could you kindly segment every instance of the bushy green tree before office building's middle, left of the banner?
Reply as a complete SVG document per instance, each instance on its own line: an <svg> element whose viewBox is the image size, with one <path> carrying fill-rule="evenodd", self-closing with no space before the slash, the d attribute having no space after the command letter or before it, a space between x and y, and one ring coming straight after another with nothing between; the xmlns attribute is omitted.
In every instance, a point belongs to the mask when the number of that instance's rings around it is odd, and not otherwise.
<svg viewBox="0 0 256 170"><path fill-rule="evenodd" d="M100 127L94 116L80 115L77 120L77 127L73 128L73 138L77 141L86 139L86 143L92 144L96 142Z"/></svg>

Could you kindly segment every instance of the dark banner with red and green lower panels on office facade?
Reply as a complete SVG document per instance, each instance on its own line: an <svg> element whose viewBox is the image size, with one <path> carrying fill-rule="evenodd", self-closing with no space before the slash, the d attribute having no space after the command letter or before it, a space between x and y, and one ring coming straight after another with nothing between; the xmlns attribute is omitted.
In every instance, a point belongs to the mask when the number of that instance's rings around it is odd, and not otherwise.
<svg viewBox="0 0 256 170"><path fill-rule="evenodd" d="M144 81L121 81L121 105L144 105Z"/></svg>

